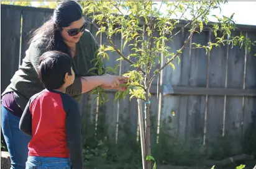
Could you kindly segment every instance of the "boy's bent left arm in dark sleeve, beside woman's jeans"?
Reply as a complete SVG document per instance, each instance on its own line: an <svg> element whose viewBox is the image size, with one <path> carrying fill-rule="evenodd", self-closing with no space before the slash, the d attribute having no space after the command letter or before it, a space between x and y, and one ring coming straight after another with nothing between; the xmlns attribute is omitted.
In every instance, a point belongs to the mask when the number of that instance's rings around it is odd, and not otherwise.
<svg viewBox="0 0 256 169"><path fill-rule="evenodd" d="M21 120L19 121L19 129L32 137L32 115L30 113L29 106L30 100L22 113Z"/></svg>

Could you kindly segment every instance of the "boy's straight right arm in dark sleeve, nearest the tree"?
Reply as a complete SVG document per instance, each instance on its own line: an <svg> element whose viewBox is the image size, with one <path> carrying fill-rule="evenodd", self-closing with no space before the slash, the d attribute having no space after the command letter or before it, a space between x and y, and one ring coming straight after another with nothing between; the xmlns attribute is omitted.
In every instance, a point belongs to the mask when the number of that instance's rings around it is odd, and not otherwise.
<svg viewBox="0 0 256 169"><path fill-rule="evenodd" d="M69 104L66 112L66 137L73 169L83 168L81 121L78 103Z"/></svg>

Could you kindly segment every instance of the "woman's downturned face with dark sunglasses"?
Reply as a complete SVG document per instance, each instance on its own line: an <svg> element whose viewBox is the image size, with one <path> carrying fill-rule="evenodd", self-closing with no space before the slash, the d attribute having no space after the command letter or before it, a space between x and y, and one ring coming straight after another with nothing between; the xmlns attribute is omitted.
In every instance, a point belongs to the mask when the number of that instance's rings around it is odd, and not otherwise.
<svg viewBox="0 0 256 169"><path fill-rule="evenodd" d="M74 35L74 36L68 35L68 32L72 32L72 31L74 32L73 29L85 30L85 28L83 28L84 24L85 24L85 19L83 19L83 17L81 17L80 20L76 20L76 21L72 22L69 27L63 28L62 32L61 32L63 40L65 40L69 43L78 43L81 35L83 35L83 31L80 31L77 35Z"/></svg>

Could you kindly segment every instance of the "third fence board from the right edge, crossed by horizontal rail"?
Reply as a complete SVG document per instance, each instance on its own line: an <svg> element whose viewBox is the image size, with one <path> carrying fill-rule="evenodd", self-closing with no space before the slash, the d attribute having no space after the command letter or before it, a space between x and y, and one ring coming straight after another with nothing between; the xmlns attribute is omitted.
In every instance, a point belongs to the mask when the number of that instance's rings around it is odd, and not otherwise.
<svg viewBox="0 0 256 169"><path fill-rule="evenodd" d="M211 41L214 35L211 33ZM213 48L209 62L209 88L225 86L226 72L226 48ZM222 136L224 97L208 96L208 110L206 119L206 145L212 147L219 137Z"/></svg>

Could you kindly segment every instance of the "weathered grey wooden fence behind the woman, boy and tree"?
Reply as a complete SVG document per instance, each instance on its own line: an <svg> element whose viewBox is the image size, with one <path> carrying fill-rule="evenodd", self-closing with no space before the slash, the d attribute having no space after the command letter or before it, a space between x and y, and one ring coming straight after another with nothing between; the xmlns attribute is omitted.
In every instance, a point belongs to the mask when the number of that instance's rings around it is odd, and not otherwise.
<svg viewBox="0 0 256 169"><path fill-rule="evenodd" d="M1 5L1 91L9 85L25 56L27 33L42 25L52 12L52 9ZM93 35L97 32L93 25L88 25L88 30ZM256 27L240 26L240 30L252 41L256 40ZM187 36L185 31L170 41L171 50L180 49ZM190 45L207 44L211 38L211 32L195 34ZM106 37L99 34L96 40L103 44ZM116 35L114 42L120 48L121 35ZM122 52L130 53L128 45ZM245 131L256 121L254 53L255 47L250 53L231 46L214 48L209 54L203 49L185 50L181 63L174 61L176 69L167 67L159 77L158 97L157 80L153 82L150 107L153 144L158 140L159 128L161 131L165 124L165 133L183 141L208 144L230 136L232 149L240 150L236 148L242 147ZM106 65L120 64L121 74L132 69L126 61L116 61L119 58L116 53L109 53L109 57ZM89 94L83 96L81 112L85 130L95 130L98 134L100 128L101 134L112 142L127 137L136 141L139 133L136 100L126 98L117 103L113 101L114 92L107 95L109 102L104 106L99 106ZM127 131L132 135L128 136Z"/></svg>

